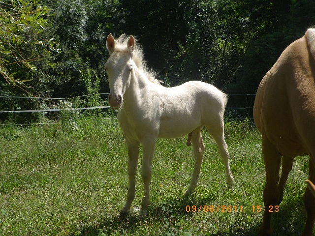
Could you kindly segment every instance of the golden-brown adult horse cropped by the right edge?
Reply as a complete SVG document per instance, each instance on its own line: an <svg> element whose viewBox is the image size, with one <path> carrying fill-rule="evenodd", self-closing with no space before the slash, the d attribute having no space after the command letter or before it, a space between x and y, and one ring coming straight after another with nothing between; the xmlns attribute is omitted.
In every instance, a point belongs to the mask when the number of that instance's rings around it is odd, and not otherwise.
<svg viewBox="0 0 315 236"><path fill-rule="evenodd" d="M309 179L315 182L315 29L308 29L302 38L291 43L264 76L253 115L262 135L266 168L263 200L268 209L267 206L282 201L295 156L309 155ZM307 220L303 236L313 235L315 222L315 197L310 189L304 194ZM272 233L268 210L264 211L260 232Z"/></svg>

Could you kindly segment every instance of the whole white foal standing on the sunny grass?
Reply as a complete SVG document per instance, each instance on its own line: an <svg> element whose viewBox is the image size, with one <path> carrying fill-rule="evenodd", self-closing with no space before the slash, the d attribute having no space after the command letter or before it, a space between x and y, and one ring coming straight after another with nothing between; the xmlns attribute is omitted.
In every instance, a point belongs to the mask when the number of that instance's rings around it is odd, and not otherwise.
<svg viewBox="0 0 315 236"><path fill-rule="evenodd" d="M141 215L147 214L150 203L149 185L157 138L177 138L191 133L195 166L186 194L196 188L205 150L201 136L202 126L207 128L219 147L226 180L232 187L233 177L224 141L226 95L216 87L200 81L190 81L173 88L161 86L146 69L142 50L135 48L132 36L129 39L121 36L116 41L109 34L107 49L110 53L105 65L110 84L109 103L112 108L119 109L118 121L125 134L129 158L127 201L121 215L129 211L135 196L140 144L143 147L141 176L144 182Z"/></svg>

